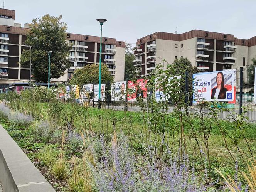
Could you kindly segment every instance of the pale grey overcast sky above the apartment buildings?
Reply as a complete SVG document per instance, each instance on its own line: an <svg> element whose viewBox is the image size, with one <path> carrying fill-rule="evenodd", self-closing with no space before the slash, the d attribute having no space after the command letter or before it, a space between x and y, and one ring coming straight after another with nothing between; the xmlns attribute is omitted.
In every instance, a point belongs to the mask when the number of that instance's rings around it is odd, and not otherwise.
<svg viewBox="0 0 256 192"><path fill-rule="evenodd" d="M5 8L16 11L15 22L22 26L46 13L62 15L68 32L84 35L99 36L96 19L105 18L103 36L130 43L175 27L179 34L199 29L256 36L255 0L5 0Z"/></svg>

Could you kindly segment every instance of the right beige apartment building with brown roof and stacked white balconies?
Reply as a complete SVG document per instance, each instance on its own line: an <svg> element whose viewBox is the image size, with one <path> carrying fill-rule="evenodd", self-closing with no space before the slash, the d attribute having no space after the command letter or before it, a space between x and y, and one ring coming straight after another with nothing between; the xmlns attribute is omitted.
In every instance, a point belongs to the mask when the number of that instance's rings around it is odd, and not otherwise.
<svg viewBox="0 0 256 192"><path fill-rule="evenodd" d="M138 76L146 77L165 59L187 57L201 72L250 65L256 57L256 37L238 39L231 34L192 30L183 34L156 32L137 40L133 61Z"/></svg>

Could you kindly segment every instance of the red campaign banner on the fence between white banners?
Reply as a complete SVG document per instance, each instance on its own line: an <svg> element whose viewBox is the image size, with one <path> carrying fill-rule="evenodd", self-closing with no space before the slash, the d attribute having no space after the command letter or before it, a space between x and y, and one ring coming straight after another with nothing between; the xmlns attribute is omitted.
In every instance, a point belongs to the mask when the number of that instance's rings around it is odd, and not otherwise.
<svg viewBox="0 0 256 192"><path fill-rule="evenodd" d="M138 79L136 83L133 81L128 81L128 89L130 90L127 94L127 101L133 102L137 101L138 98L143 98L143 100L147 99L147 79Z"/></svg>

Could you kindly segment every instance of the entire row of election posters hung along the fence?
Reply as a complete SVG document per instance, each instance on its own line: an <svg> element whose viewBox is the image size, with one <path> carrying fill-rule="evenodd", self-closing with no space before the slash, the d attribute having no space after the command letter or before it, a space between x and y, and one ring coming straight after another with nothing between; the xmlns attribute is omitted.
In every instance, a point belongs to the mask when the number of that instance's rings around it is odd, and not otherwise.
<svg viewBox="0 0 256 192"><path fill-rule="evenodd" d="M162 82L160 79L155 79L155 100L159 101L170 101L171 92L168 91L172 89L172 83L179 83L181 76L175 76L170 78L169 85L165 88L165 94ZM174 81L175 80L175 81ZM177 81L176 81L177 80ZM138 99L146 101L148 89L147 89L147 79L138 79L136 82L133 81L119 81L111 84L111 101L127 101L136 102ZM223 101L228 103L236 102L236 69L224 70L224 71L214 71L193 74L193 86L194 86L194 103L199 103L200 101ZM256 86L256 84L255 84ZM93 94L93 100L99 100L99 91L101 101L105 100L105 89L106 84L86 84L83 85L83 89L79 91L78 85L66 86L66 93L59 91L59 99L69 99L71 98L71 93L75 95L75 99L80 102L89 102L90 95ZM169 94L168 94L169 93Z"/></svg>

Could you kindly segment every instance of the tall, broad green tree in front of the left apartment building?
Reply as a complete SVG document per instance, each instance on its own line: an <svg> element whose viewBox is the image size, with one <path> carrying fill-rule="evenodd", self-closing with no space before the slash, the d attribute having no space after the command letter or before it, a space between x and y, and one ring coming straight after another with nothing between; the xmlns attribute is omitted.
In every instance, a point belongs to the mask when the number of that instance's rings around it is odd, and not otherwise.
<svg viewBox="0 0 256 192"><path fill-rule="evenodd" d="M50 78L59 78L70 66L68 60L70 46L66 43L67 24L59 17L44 15L41 19L33 19L31 30L27 33L26 45L32 46L32 69L36 81L48 82L48 56L46 51L52 51ZM30 61L30 50L21 54L21 64Z"/></svg>

